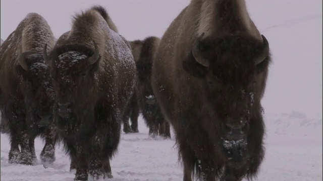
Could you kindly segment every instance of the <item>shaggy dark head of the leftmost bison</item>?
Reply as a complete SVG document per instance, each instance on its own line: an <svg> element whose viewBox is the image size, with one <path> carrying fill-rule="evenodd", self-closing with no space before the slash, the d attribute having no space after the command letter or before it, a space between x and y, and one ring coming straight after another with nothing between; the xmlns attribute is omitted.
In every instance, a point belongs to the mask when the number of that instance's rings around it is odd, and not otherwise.
<svg viewBox="0 0 323 181"><path fill-rule="evenodd" d="M27 121L45 126L52 121L54 93L49 76L49 66L41 53L28 51L19 56L17 70L25 95Z"/></svg>

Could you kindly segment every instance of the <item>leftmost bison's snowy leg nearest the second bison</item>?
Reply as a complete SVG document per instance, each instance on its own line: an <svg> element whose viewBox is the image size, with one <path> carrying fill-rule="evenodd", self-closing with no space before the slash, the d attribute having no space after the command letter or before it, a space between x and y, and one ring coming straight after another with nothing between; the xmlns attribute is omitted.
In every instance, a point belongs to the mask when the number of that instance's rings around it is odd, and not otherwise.
<svg viewBox="0 0 323 181"><path fill-rule="evenodd" d="M56 160L55 158L55 144L57 140L56 130L53 126L49 126L45 130L45 146L40 153L41 163L45 166L51 164Z"/></svg>

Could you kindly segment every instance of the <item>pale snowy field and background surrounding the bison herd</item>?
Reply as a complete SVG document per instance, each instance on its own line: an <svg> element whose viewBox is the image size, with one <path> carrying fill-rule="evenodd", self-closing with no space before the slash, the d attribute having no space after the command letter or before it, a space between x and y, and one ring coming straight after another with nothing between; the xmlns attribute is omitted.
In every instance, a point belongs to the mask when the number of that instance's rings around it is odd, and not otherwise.
<svg viewBox="0 0 323 181"><path fill-rule="evenodd" d="M273 64L262 101L265 110L265 160L257 180L322 180L322 1L246 0L249 14L271 46ZM128 40L161 37L188 0L2 0L1 38L6 39L30 12L42 15L59 37L70 29L71 16L92 5L109 11ZM139 132L122 134L111 161L113 179L182 180L175 141L148 139ZM172 135L173 136L173 135ZM36 154L42 149L36 140ZM70 159L57 147L49 168L8 163L10 144L1 134L1 180L72 181Z"/></svg>

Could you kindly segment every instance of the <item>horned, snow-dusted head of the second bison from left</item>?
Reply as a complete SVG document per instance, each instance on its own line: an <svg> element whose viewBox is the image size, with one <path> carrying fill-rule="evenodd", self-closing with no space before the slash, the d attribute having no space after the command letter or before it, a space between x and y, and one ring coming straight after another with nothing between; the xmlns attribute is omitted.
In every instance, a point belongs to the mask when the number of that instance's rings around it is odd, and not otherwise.
<svg viewBox="0 0 323 181"><path fill-rule="evenodd" d="M99 65L99 49L69 44L54 48L44 57L50 64L52 84L55 91L54 112L58 114L58 128L65 128L66 119L88 111L96 83L95 71ZM46 47L45 47L46 48ZM44 49L45 50L45 49ZM88 113L90 114L90 113ZM81 123L79 123L81 124Z"/></svg>

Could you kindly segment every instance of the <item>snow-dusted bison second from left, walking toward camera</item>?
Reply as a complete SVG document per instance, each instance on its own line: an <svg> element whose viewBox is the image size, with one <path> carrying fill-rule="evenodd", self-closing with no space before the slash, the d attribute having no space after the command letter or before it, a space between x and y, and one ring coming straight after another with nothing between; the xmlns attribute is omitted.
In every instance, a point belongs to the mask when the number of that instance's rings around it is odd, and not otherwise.
<svg viewBox="0 0 323 181"><path fill-rule="evenodd" d="M137 81L130 45L109 28L103 10L74 16L72 29L44 52L56 96L53 120L76 167L75 180L87 180L88 173L112 177L109 160Z"/></svg>

